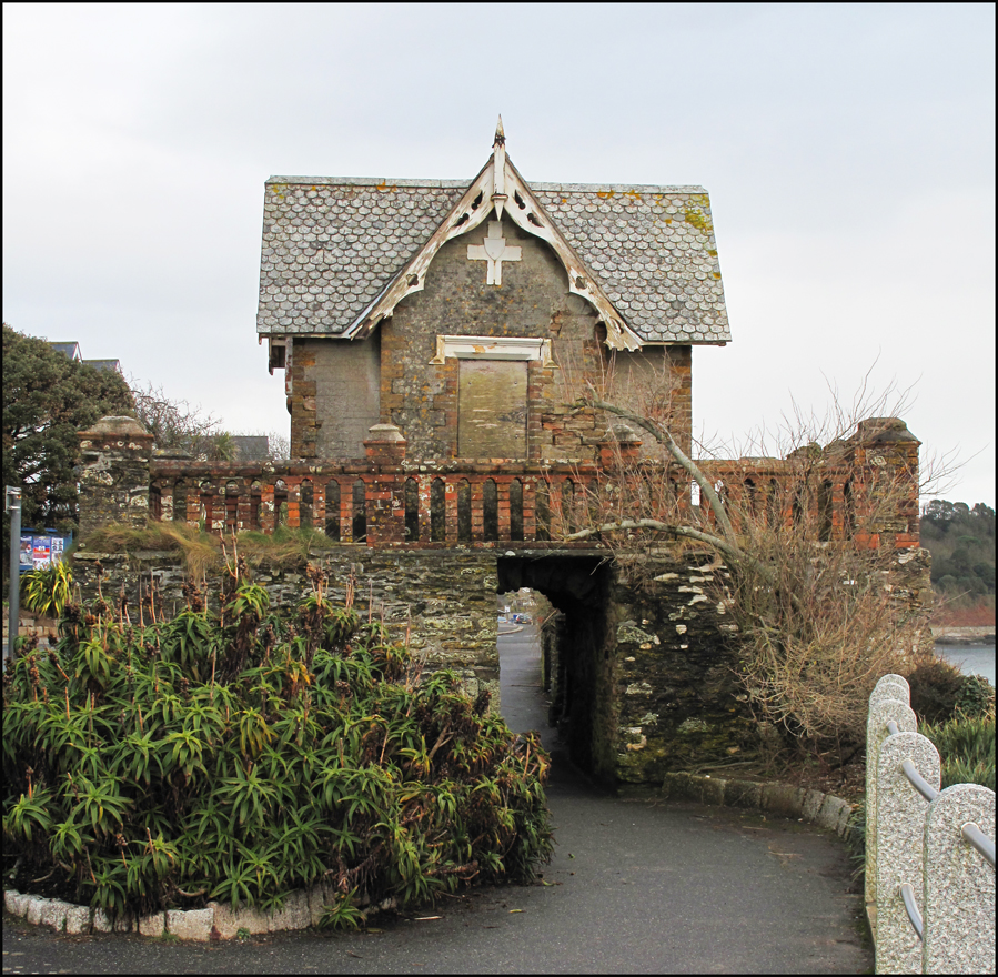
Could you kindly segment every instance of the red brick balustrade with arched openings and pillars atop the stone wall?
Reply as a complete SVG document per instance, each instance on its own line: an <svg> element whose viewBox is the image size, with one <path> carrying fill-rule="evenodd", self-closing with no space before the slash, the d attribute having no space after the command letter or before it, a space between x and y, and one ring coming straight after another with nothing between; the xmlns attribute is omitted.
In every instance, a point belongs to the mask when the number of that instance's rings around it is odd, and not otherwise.
<svg viewBox="0 0 998 977"><path fill-rule="evenodd" d="M80 434L81 525L88 526L114 521L122 500L134 510L144 495L152 518L203 523L216 533L272 533L283 524L376 547L564 546L557 541L584 527L591 515L613 518L628 506L632 514L655 515L649 500L656 492L665 493L673 514L676 504L689 512L689 479L675 465L641 460L641 439L621 424L606 433L595 462L558 463L411 460L402 432L391 424L371 427L363 459L204 462L139 452L135 434L122 441L120 423L109 432L101 424ZM904 422L875 419L813 459L798 453L700 466L720 486L736 530L743 513L755 512L769 525L807 520L819 541L900 548L918 545L918 445ZM115 467L122 451L144 456ZM107 484L105 473L119 469L137 484ZM898 482L900 504L895 500L887 516L876 515L884 486ZM616 507L615 498L622 500ZM664 505L657 514L667 518ZM700 517L713 522L706 506Z"/></svg>

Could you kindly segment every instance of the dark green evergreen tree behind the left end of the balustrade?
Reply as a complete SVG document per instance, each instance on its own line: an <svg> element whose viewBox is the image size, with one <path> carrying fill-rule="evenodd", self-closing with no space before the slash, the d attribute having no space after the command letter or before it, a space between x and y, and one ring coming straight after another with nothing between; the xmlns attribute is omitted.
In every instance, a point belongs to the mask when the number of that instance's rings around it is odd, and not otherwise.
<svg viewBox="0 0 998 977"><path fill-rule="evenodd" d="M70 531L77 522L77 431L131 412L124 379L70 360L3 323L3 484L21 488L21 524ZM3 552L10 517L3 518ZM8 561L3 560L4 576Z"/></svg>

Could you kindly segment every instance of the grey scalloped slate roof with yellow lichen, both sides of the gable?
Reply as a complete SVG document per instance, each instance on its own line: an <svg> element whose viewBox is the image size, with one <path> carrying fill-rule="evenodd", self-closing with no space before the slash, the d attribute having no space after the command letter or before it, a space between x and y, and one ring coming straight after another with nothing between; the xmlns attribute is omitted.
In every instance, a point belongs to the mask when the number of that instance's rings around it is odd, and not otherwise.
<svg viewBox="0 0 998 977"><path fill-rule="evenodd" d="M265 187L256 331L344 333L468 185L272 177ZM642 340L730 341L702 187L530 187Z"/></svg>

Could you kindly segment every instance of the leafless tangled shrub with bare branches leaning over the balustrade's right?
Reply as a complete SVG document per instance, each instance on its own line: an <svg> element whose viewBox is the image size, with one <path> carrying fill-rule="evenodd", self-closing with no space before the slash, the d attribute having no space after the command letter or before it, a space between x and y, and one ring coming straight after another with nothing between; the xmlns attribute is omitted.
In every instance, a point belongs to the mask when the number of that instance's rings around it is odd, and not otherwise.
<svg viewBox="0 0 998 977"><path fill-rule="evenodd" d="M715 597L737 625L757 717L829 762L848 759L876 681L909 673L931 647L927 552L911 533L919 487L954 465L923 460L919 472L897 420L906 392L836 396L824 419L795 407L750 454L699 445L694 460L671 430L667 377L649 393L633 377L615 390L611 370L583 383L566 373L575 409L597 411L615 442L612 467L589 485L586 527L566 538L599 537L632 565L664 541L714 551L727 568Z"/></svg>

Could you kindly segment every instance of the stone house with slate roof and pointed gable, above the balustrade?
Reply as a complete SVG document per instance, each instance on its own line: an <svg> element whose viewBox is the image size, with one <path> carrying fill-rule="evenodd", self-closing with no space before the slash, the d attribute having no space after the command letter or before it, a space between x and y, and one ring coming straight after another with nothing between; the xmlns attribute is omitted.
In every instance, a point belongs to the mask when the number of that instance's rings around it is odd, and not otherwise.
<svg viewBox="0 0 998 977"><path fill-rule="evenodd" d="M693 346L730 340L702 187L530 184L502 120L471 181L271 178L256 331L295 459L387 423L411 459L592 460L583 372L655 387L688 445Z"/></svg>

